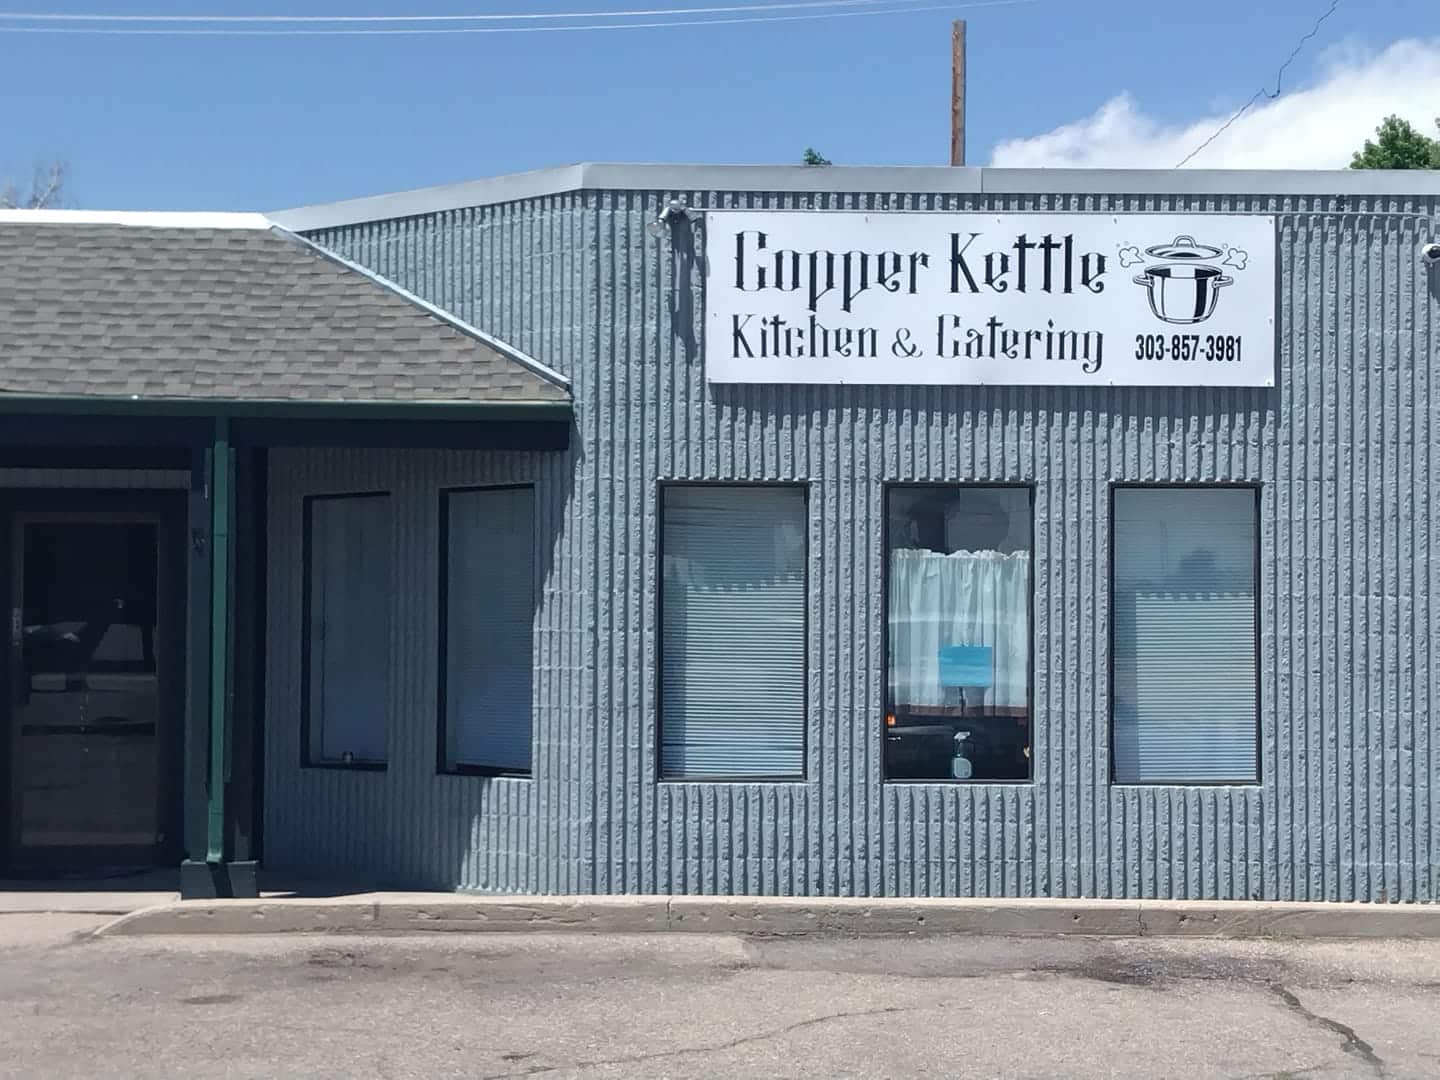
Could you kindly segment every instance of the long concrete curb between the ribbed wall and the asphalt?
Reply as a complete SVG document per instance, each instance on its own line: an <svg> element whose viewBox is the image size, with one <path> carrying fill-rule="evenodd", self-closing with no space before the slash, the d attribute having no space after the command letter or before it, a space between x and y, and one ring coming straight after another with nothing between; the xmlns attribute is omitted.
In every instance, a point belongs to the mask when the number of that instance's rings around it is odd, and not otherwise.
<svg viewBox="0 0 1440 1080"><path fill-rule="evenodd" d="M475 896L189 900L122 916L96 933L734 933L1089 935L1103 937L1440 939L1440 904L1187 900L937 900L698 896Z"/></svg>

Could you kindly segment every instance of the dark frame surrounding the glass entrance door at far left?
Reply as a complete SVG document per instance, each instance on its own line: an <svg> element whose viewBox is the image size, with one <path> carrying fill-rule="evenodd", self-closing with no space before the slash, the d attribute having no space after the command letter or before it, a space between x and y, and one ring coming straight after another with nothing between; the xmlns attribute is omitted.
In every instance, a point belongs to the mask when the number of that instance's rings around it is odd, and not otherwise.
<svg viewBox="0 0 1440 1080"><path fill-rule="evenodd" d="M156 642L160 675L156 799L163 840L153 848L75 847L22 848L14 828L16 724L13 626L0 664L0 874L43 874L56 870L98 870L101 865L173 865L183 850L181 749L186 708L186 521L189 492L174 490L9 488L0 491L0 611L12 621L14 580L19 573L19 528L27 521L154 521L157 531L157 613L167 628ZM138 861L137 861L138 860Z"/></svg>

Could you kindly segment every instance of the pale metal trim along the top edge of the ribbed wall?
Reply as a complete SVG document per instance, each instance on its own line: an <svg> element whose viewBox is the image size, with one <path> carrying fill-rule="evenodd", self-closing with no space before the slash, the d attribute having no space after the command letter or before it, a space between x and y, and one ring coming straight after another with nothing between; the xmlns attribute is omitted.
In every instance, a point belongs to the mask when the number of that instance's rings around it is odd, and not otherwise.
<svg viewBox="0 0 1440 1080"><path fill-rule="evenodd" d="M292 232L308 232L589 190L1440 197L1440 171L586 163L274 210L269 216Z"/></svg>

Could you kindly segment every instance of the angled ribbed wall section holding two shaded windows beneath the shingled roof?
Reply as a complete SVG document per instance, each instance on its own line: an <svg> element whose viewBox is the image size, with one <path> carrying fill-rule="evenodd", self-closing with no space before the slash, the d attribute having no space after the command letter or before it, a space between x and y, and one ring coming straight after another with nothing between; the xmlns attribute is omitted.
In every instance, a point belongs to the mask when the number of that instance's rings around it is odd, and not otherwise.
<svg viewBox="0 0 1440 1080"><path fill-rule="evenodd" d="M271 451L265 852L271 865L379 881L517 893L583 891L588 842L562 778L585 737L573 703L586 657L575 625L567 454ZM536 484L547 582L536 631L534 779L438 776L441 491ZM383 772L300 768L304 497L390 492L389 753Z"/></svg>

